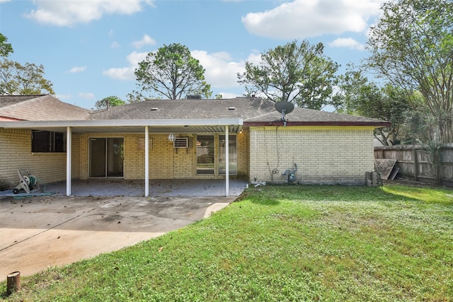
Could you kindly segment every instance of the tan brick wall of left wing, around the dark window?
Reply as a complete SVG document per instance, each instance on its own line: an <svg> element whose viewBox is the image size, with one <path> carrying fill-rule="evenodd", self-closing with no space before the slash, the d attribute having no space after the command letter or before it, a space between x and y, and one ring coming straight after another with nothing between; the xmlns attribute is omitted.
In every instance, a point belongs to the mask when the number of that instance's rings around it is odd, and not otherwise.
<svg viewBox="0 0 453 302"><path fill-rule="evenodd" d="M77 141L78 134L73 134L72 178L79 177ZM66 153L32 153L30 130L0 129L0 180L9 188L16 187L18 169L30 170L41 182L62 181L66 179Z"/></svg>

